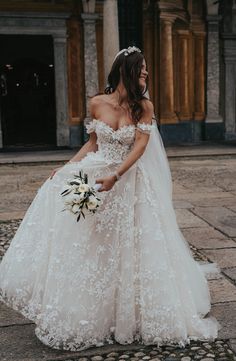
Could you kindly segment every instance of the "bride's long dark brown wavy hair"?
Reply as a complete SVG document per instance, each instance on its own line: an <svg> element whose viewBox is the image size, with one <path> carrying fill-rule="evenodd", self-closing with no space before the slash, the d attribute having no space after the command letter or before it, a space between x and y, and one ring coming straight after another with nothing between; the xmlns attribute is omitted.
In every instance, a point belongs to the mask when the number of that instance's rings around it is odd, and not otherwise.
<svg viewBox="0 0 236 361"><path fill-rule="evenodd" d="M122 77L124 87L127 91L132 120L135 124L143 115L143 108L140 100L146 99L144 93L148 86L148 78L146 79L146 89L142 89L139 84L143 60L143 54L137 51L129 55L125 55L124 53L118 55L112 64L111 71L108 75L108 85L104 90L105 94L113 93Z"/></svg>

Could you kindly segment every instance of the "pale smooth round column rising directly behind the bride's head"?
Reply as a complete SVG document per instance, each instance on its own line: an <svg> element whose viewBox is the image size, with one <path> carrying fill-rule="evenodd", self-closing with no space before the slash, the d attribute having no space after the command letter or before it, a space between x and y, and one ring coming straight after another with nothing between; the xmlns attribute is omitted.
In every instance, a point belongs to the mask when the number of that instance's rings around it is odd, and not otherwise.
<svg viewBox="0 0 236 361"><path fill-rule="evenodd" d="M119 26L117 0L105 0L103 4L103 55L105 84L114 57L119 51Z"/></svg>

